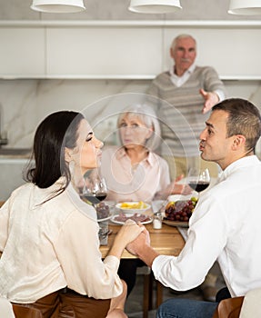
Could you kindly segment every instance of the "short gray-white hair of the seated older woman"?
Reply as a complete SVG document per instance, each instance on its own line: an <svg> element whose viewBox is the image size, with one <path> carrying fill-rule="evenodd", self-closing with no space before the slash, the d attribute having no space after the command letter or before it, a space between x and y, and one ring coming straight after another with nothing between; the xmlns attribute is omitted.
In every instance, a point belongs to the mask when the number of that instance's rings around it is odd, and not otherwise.
<svg viewBox="0 0 261 318"><path fill-rule="evenodd" d="M119 114L118 116L118 128L126 114L138 118L146 125L147 128L152 128L154 133L147 139L146 147L150 151L155 150L159 146L161 141L161 130L154 109L147 104L133 104L131 106L128 106L127 108L125 108L124 112L122 114Z"/></svg>

